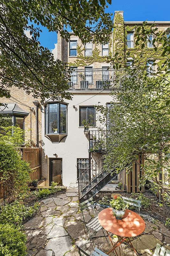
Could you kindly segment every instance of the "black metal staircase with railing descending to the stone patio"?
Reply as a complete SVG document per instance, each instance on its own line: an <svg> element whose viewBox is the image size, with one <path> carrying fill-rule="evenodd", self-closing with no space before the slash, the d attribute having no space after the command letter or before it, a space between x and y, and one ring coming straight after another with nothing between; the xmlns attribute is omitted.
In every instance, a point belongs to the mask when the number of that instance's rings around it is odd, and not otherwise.
<svg viewBox="0 0 170 256"><path fill-rule="evenodd" d="M96 195L98 191L100 191L114 177L118 175L116 172L117 166L115 166L112 170L105 171L103 167L105 155L106 153L103 152L103 154L101 154L94 162L92 162L88 168L80 173L78 177L80 203Z"/></svg>

